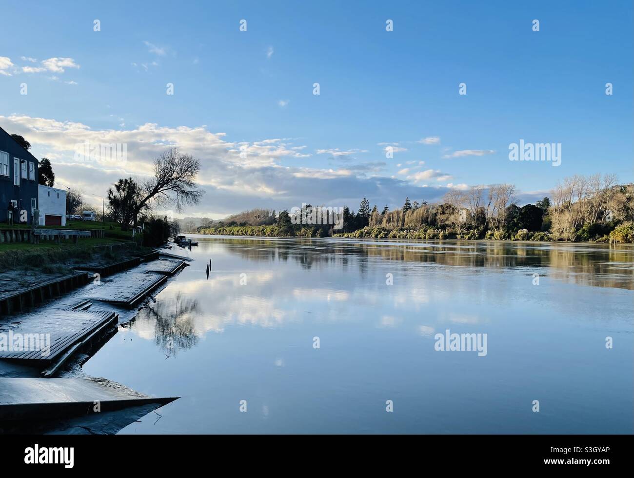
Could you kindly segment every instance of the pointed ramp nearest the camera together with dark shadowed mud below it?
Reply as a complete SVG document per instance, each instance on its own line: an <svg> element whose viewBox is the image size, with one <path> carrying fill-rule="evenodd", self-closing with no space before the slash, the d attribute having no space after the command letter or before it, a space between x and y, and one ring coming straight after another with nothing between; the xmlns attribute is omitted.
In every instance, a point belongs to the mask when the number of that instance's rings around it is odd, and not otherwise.
<svg viewBox="0 0 634 478"><path fill-rule="evenodd" d="M63 429L79 427L91 433L113 433L176 399L150 397L105 378L0 378L0 429L68 432ZM112 413L126 408L133 410ZM117 418L118 429L113 430Z"/></svg>

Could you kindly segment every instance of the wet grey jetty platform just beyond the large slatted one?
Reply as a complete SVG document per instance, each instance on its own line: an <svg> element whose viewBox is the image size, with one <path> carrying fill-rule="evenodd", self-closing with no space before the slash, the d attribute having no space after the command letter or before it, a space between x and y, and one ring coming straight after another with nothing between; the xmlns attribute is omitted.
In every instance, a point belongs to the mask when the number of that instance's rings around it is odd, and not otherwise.
<svg viewBox="0 0 634 478"><path fill-rule="evenodd" d="M122 272L115 280L86 290L83 298L133 307L166 280L167 275L162 273Z"/></svg>

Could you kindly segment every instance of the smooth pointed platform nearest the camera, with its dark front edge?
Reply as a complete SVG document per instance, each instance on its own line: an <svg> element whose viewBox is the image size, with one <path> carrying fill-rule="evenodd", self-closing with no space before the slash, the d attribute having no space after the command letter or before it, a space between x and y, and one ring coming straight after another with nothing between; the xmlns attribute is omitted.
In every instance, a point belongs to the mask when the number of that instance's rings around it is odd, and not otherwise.
<svg viewBox="0 0 634 478"><path fill-rule="evenodd" d="M178 398L150 397L104 378L0 378L0 422L81 417L142 404L159 408Z"/></svg>

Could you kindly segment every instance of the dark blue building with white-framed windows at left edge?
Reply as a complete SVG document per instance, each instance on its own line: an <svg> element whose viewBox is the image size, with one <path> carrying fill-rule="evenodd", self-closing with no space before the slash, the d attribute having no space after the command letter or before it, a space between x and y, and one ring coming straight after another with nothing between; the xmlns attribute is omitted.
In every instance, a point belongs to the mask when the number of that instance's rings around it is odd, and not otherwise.
<svg viewBox="0 0 634 478"><path fill-rule="evenodd" d="M0 128L0 223L30 224L37 209L37 159Z"/></svg>

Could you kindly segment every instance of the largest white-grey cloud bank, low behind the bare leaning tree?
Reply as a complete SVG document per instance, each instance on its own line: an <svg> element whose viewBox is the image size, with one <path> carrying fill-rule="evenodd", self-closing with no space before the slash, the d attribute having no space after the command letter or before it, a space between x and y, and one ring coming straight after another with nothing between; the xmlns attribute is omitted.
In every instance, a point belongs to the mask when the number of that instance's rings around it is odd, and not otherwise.
<svg viewBox="0 0 634 478"><path fill-rule="evenodd" d="M377 204L399 204L405 196L434 202L447 191L440 185L422 190L403 179L370 176L384 168L385 163L356 164L342 169L281 165L283 159L298 157L306 147L283 138L230 141L223 132L210 132L204 125L167 127L146 123L127 129L93 129L79 122L0 115L0 126L27 138L36 157L51 158L58 183L102 196L119 178L133 176L143 180L152 174L154 158L166 148L178 147L202 163L197 183L205 190L205 196L200 205L186 211L193 216L223 217L258 205L290 209L307 197L313 203L323 204L354 204L363 197ZM127 161L105 164L75 160L75 149L84 141L124 143ZM363 150L337 149L331 153L355 151ZM424 174L417 177L422 179ZM426 176L436 179L446 174L433 171Z"/></svg>

